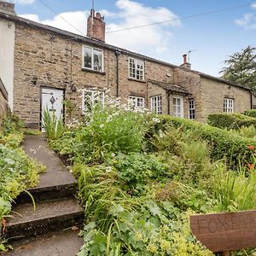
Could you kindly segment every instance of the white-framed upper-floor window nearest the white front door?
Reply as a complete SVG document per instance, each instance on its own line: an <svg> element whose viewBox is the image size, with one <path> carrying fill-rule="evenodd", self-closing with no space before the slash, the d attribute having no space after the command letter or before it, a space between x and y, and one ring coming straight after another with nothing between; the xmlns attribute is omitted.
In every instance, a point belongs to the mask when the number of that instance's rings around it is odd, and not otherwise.
<svg viewBox="0 0 256 256"><path fill-rule="evenodd" d="M103 72L103 51L83 46L83 68Z"/></svg>

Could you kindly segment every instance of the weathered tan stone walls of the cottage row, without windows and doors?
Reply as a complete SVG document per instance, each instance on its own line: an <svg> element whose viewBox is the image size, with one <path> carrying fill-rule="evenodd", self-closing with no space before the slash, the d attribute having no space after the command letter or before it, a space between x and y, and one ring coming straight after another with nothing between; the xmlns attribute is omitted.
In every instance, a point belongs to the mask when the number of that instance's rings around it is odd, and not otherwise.
<svg viewBox="0 0 256 256"><path fill-rule="evenodd" d="M76 105L73 118L81 116L82 90L88 88L103 90L108 96L119 95L122 103L127 103L129 96L143 97L145 108L149 109L150 97L161 95L162 112L166 114L173 114L173 96L180 96L184 118L189 118L189 99L194 99L195 119L203 122L209 113L223 112L224 97L235 99L236 112L251 108L249 90L189 70L187 66L177 67L33 21L28 24L15 16L12 21L15 22L14 110L28 125L40 125L44 87L65 90L65 98ZM82 68L83 45L102 49L102 72ZM144 61L143 81L129 79L130 57ZM152 81L166 84L167 89ZM183 90L169 90L168 86Z"/></svg>

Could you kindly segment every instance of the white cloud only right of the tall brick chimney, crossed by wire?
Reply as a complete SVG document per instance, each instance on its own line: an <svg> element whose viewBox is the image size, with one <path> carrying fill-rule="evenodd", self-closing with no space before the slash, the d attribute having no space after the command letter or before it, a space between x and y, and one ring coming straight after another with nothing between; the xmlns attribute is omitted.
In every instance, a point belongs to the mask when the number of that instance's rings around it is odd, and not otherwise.
<svg viewBox="0 0 256 256"><path fill-rule="evenodd" d="M170 28L181 25L179 20L175 20L177 15L174 15L171 10L166 8L154 9L130 0L119 0L116 5L120 10L119 17L121 17L121 20L107 25L107 40L109 44L154 56L167 52L172 44ZM111 33L111 31L143 26L164 20L174 21Z"/></svg>

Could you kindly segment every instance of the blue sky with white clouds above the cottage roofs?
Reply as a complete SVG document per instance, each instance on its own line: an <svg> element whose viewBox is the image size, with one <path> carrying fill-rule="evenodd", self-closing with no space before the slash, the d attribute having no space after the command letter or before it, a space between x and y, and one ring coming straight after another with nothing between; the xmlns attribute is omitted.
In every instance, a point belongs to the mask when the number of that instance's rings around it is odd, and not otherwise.
<svg viewBox="0 0 256 256"><path fill-rule="evenodd" d="M55 11L52 12L43 3ZM18 15L72 32L86 31L90 0L14 0ZM212 15L175 20L124 32L107 33L106 41L179 65L190 55L192 69L218 76L228 55L256 46L256 2L242 0L95 0L105 15L107 31L183 18L248 4ZM66 21L72 23L69 26ZM74 29L73 27L76 27Z"/></svg>

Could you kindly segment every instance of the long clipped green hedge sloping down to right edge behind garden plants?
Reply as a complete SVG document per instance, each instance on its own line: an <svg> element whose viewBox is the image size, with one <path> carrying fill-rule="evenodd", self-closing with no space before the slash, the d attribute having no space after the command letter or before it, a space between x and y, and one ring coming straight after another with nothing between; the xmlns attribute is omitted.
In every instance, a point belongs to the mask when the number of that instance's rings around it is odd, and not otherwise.
<svg viewBox="0 0 256 256"><path fill-rule="evenodd" d="M168 124L176 127L182 125L184 130L195 131L202 140L207 141L214 160L226 159L230 166L254 163L253 153L254 147L256 148L254 139L244 138L231 131L194 120L178 119L167 115L160 116L160 123L154 125L154 131L165 130Z"/></svg>

